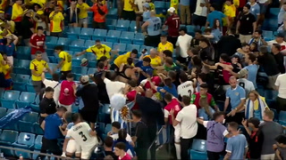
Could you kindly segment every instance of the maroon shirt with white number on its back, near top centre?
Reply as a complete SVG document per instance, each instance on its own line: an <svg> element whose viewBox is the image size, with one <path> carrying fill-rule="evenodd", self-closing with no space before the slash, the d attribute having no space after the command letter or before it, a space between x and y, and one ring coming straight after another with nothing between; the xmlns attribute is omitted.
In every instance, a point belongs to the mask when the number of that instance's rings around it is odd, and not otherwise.
<svg viewBox="0 0 286 160"><path fill-rule="evenodd" d="M177 14L172 14L165 22L164 25L168 26L168 36L179 36L180 17Z"/></svg>

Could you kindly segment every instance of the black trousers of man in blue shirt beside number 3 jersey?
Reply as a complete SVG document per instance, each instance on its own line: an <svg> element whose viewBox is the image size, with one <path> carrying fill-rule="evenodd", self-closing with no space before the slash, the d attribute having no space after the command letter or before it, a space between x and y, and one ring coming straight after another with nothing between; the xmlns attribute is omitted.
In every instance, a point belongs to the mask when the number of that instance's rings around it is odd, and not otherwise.
<svg viewBox="0 0 286 160"><path fill-rule="evenodd" d="M43 137L42 139L42 148L41 153L45 153L46 151L50 151L55 156L61 156L62 155L62 149L57 145L57 140L47 140ZM38 156L37 159L44 160L46 156ZM55 158L55 160L58 160Z"/></svg>

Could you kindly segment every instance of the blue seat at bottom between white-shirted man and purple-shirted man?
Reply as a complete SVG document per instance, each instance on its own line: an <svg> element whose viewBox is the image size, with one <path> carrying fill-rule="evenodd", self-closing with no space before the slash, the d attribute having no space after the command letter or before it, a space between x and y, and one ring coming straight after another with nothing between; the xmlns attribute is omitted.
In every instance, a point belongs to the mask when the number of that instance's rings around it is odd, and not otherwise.
<svg viewBox="0 0 286 160"><path fill-rule="evenodd" d="M206 140L194 139L189 153L191 159L207 159Z"/></svg>

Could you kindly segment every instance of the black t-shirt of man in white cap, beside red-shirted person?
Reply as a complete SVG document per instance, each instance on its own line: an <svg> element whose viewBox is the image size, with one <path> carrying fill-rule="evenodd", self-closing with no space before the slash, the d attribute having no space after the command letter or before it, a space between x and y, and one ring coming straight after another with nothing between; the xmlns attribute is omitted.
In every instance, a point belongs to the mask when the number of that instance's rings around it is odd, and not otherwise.
<svg viewBox="0 0 286 160"><path fill-rule="evenodd" d="M78 92L77 97L81 97L84 108L90 111L97 111L99 108L98 88L96 84L84 85Z"/></svg>

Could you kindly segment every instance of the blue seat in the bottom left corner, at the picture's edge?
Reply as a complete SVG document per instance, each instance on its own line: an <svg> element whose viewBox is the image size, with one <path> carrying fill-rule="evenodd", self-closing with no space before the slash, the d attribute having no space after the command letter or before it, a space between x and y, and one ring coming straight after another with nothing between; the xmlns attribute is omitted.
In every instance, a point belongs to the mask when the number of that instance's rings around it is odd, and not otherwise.
<svg viewBox="0 0 286 160"><path fill-rule="evenodd" d="M0 145L5 147L12 147L12 144L17 141L18 133L15 131L4 130L0 135ZM1 152L4 156L13 156L13 150L1 148Z"/></svg>

